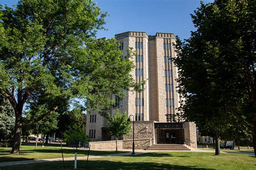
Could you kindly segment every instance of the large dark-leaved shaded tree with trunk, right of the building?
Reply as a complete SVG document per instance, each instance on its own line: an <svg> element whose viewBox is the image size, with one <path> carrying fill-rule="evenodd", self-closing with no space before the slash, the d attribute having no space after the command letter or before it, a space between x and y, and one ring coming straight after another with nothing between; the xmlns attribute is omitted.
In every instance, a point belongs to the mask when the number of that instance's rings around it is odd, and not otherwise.
<svg viewBox="0 0 256 170"><path fill-rule="evenodd" d="M177 39L180 109L213 134L217 155L221 134L237 123L251 130L256 151L255 9L252 0L201 3L192 15L197 30Z"/></svg>

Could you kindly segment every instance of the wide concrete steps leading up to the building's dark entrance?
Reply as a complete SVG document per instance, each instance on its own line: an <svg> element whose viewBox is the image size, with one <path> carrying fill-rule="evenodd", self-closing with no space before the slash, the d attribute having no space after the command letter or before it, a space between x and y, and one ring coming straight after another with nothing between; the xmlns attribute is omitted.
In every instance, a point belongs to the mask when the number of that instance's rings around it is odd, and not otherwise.
<svg viewBox="0 0 256 170"><path fill-rule="evenodd" d="M146 150L160 150L160 151L190 151L190 147L183 144L156 144L152 145Z"/></svg>

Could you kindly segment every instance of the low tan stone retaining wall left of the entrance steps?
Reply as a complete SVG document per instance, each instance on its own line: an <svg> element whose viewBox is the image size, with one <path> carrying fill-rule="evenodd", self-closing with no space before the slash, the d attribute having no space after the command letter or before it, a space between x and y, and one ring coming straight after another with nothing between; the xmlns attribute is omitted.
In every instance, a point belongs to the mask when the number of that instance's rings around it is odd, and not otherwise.
<svg viewBox="0 0 256 170"><path fill-rule="evenodd" d="M134 139L135 149L144 150L146 147L151 146L151 138ZM92 141L89 143L92 150L115 150L116 140L109 141ZM132 149L132 139L117 140L117 148Z"/></svg>

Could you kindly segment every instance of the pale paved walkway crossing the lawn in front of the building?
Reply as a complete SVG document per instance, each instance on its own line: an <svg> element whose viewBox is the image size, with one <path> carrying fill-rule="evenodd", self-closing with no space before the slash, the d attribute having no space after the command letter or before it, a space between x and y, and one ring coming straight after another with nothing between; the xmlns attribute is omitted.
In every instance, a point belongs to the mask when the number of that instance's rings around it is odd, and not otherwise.
<svg viewBox="0 0 256 170"><path fill-rule="evenodd" d="M113 150L109 150L113 151ZM105 154L105 155L89 155L89 159L94 158L104 158L104 157L113 157L113 156L124 156L124 155L131 155L131 150L119 150L119 151L126 151L125 153L116 153L116 154ZM136 150L136 155L142 154L142 153L152 153L152 152L210 152L214 153L215 151L211 150L191 150L191 151L159 151L159 150ZM226 153L221 151L221 153ZM227 152L227 153L235 153L235 152ZM248 154L248 152L243 152L242 154ZM250 153L249 153L250 154ZM77 157L77 160L85 160L87 157ZM70 158L64 158L64 161L72 161L74 160L74 157ZM10 161L10 162L0 162L0 167L4 166L14 166L14 165L24 165L24 164L36 164L36 163L45 163L45 162L56 162L56 161L62 161L62 158L52 158L52 159L34 159L34 160L22 160L22 161Z"/></svg>

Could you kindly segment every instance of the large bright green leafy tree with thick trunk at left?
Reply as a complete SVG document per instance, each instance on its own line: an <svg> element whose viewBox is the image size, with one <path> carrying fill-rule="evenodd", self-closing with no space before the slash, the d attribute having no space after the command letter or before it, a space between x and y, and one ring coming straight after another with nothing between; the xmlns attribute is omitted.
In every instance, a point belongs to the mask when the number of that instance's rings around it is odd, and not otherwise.
<svg viewBox="0 0 256 170"><path fill-rule="evenodd" d="M106 13L91 0L22 0L0 7L0 93L15 112L11 153L19 153L22 127L64 108L71 98L108 109L109 94L133 85L130 60L114 39L96 39ZM35 116L26 118L26 110Z"/></svg>

